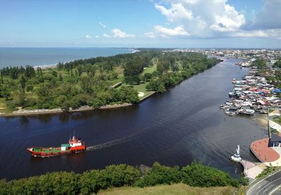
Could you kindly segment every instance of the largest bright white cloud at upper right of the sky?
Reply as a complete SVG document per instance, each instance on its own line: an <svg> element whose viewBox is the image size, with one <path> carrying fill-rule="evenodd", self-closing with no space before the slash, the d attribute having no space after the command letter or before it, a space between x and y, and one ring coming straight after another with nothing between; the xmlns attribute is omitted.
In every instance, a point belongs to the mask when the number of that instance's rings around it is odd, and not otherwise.
<svg viewBox="0 0 281 195"><path fill-rule="evenodd" d="M166 20L176 26L188 29L194 37L228 37L245 23L228 0L166 0L170 8L155 4ZM171 25L170 24L170 25Z"/></svg>

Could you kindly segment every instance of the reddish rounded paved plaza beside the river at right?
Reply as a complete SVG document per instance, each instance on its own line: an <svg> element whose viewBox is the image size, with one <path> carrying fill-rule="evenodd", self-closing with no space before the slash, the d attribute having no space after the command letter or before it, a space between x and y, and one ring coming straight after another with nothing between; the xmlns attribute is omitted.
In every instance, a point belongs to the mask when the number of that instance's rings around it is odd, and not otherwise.
<svg viewBox="0 0 281 195"><path fill-rule="evenodd" d="M269 138L260 139L251 143L251 151L262 163L271 163L279 160L280 155L275 149L268 147Z"/></svg>

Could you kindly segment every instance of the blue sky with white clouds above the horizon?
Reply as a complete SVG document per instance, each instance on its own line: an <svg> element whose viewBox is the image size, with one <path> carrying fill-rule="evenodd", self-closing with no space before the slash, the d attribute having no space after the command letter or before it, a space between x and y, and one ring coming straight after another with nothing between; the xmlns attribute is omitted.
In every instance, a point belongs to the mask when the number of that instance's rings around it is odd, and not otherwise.
<svg viewBox="0 0 281 195"><path fill-rule="evenodd" d="M0 0L0 46L280 48L281 0Z"/></svg>

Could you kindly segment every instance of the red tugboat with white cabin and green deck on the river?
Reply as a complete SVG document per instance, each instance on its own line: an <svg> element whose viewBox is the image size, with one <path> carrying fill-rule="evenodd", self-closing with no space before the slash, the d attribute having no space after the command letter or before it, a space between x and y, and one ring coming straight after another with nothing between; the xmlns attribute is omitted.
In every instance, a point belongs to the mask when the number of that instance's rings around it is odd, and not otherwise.
<svg viewBox="0 0 281 195"><path fill-rule="evenodd" d="M32 147L27 151L34 157L58 156L64 153L79 153L86 150L86 144L80 138L72 137L68 144L61 144L58 147Z"/></svg>

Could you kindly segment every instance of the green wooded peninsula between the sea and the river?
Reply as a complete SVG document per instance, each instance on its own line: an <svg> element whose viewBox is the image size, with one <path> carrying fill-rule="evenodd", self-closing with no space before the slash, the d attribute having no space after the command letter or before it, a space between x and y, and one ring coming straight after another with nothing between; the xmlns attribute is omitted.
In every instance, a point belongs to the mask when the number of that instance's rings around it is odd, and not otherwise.
<svg viewBox="0 0 281 195"><path fill-rule="evenodd" d="M216 63L198 53L151 50L58 63L56 68L6 67L0 70L0 108L7 113L19 108L68 111L138 103L138 88L162 93Z"/></svg>

